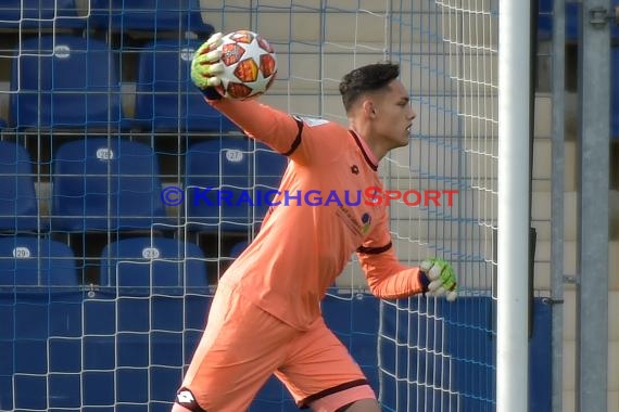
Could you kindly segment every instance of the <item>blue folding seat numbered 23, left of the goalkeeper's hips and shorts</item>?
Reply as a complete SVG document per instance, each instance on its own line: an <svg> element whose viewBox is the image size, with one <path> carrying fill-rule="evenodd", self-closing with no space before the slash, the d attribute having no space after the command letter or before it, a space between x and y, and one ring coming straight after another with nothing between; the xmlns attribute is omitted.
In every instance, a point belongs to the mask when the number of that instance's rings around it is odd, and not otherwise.
<svg viewBox="0 0 619 412"><path fill-rule="evenodd" d="M101 253L101 286L115 296L116 401L144 402L149 392L150 401L169 401L186 361L188 295L210 293L202 250L166 237L111 243ZM204 306L198 316L205 314Z"/></svg>

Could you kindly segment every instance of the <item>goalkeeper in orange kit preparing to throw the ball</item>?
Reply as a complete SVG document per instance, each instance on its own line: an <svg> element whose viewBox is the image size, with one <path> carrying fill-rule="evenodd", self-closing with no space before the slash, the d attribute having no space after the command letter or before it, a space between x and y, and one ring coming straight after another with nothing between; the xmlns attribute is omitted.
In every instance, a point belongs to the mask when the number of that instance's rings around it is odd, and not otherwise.
<svg viewBox="0 0 619 412"><path fill-rule="evenodd" d="M345 128L255 100L222 98L215 89L220 38L214 35L195 52L191 78L209 104L289 158L280 194L334 191L344 198L346 191L382 188L378 163L390 150L408 144L416 116L397 65L371 64L343 77ZM300 408L379 411L361 368L320 314L320 300L353 253L379 298L457 296L446 261L399 262L384 202L314 207L282 202L269 209L255 240L222 276L173 411L247 411L271 374Z"/></svg>

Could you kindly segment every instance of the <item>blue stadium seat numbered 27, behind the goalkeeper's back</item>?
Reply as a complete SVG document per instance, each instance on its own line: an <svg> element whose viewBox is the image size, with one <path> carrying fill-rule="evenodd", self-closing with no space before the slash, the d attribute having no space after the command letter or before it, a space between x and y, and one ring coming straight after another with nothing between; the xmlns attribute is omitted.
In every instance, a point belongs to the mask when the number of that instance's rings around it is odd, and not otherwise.
<svg viewBox="0 0 619 412"><path fill-rule="evenodd" d="M245 138L205 140L186 156L190 230L247 232L262 221L287 165L285 156Z"/></svg>

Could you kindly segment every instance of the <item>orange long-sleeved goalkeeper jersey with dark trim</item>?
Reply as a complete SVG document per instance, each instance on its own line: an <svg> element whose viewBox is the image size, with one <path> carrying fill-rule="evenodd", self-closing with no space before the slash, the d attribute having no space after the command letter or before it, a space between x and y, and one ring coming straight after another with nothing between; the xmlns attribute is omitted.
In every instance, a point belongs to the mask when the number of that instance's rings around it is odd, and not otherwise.
<svg viewBox="0 0 619 412"><path fill-rule="evenodd" d="M209 101L245 133L290 158L255 240L220 282L299 330L320 316L320 300L353 253L380 298L420 293L418 268L401 265L391 244L375 156L339 124L303 119L256 101Z"/></svg>

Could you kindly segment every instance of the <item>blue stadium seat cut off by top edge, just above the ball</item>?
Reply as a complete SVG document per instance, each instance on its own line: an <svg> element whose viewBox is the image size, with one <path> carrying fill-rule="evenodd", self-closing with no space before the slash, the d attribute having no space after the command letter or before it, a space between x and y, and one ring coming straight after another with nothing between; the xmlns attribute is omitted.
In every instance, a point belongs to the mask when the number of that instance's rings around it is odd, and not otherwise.
<svg viewBox="0 0 619 412"><path fill-rule="evenodd" d="M164 5L165 4L165 5ZM207 38L213 26L202 21L199 0L90 0L94 27L112 31L201 34Z"/></svg>

